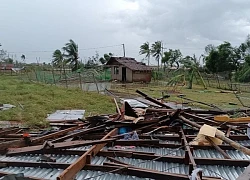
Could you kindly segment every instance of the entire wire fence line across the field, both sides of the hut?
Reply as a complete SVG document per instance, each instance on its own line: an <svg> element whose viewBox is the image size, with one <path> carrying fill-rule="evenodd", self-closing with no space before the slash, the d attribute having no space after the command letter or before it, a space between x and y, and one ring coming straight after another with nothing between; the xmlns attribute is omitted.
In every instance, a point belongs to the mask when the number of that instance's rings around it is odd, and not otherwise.
<svg viewBox="0 0 250 180"><path fill-rule="evenodd" d="M0 70L0 74L15 75L24 81L41 82L63 87L79 87L85 91L102 91L105 88L111 88L110 69L97 67L92 69L82 69L79 72L72 72L71 69L59 69L52 67L29 67L20 71ZM201 76L207 87L218 88L222 90L231 90L238 92L250 92L250 83L238 83L225 78L223 74L212 75L201 72ZM174 84L169 84L171 79L178 75L183 75ZM189 82L187 70L161 70L152 72L150 83L112 83L112 88L130 88L130 87L167 87L175 90L174 86L186 86ZM194 76L194 84L202 85L199 77Z"/></svg>

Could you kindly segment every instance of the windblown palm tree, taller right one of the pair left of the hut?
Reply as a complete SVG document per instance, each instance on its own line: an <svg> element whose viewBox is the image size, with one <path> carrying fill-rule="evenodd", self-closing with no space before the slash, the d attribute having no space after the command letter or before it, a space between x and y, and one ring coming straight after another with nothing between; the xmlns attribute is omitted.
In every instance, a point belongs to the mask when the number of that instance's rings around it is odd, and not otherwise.
<svg viewBox="0 0 250 180"><path fill-rule="evenodd" d="M79 67L78 45L70 39L62 49L66 52L66 54L64 54L66 57L65 63L70 63L72 65L72 71L76 71Z"/></svg>

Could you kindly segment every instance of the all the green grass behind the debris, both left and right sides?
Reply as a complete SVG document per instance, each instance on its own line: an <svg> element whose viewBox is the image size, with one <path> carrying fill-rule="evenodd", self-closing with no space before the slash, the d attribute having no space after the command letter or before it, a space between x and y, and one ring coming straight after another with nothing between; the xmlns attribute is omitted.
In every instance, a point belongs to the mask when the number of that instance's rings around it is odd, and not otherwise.
<svg viewBox="0 0 250 180"><path fill-rule="evenodd" d="M171 88L150 85L148 87L120 87L115 90L121 93L137 95L135 93L136 89L154 98L160 98L162 91L168 91ZM215 88L204 90L201 86L194 85L193 89L182 87L177 90L179 93L170 94L171 97L167 101L181 103L182 100L177 97L181 93L185 94L187 98L214 104L222 109L242 107L234 94L219 93L220 90ZM246 97L249 97L249 95L244 94ZM229 102L237 103L238 105L229 105ZM47 114L56 110L85 109L86 116L115 112L113 99L108 96L95 92L83 92L79 88L66 89L42 83L24 82L12 76L0 76L0 103L16 106L16 108L10 110L0 111L0 120L21 121L30 127L47 127L48 123L45 120ZM250 101L247 103L250 104ZM190 105L208 108L197 103Z"/></svg>

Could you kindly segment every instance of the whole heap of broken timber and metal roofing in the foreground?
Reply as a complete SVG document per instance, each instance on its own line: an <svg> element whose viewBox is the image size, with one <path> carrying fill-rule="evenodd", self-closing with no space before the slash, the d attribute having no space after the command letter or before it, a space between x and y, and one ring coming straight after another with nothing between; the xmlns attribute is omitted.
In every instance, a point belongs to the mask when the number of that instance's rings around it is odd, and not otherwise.
<svg viewBox="0 0 250 180"><path fill-rule="evenodd" d="M137 92L140 101L124 99L119 107L115 100L113 115L69 121L54 116L50 124L57 128L39 132L1 129L0 177L246 179L247 110L237 111L244 113L243 119L232 120L235 111L173 108ZM77 115L83 117L84 112Z"/></svg>

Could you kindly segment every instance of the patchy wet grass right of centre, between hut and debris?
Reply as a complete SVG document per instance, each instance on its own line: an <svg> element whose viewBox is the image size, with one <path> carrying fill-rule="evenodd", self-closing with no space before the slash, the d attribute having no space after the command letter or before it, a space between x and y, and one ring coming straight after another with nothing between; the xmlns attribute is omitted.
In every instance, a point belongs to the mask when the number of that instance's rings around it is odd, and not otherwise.
<svg viewBox="0 0 250 180"><path fill-rule="evenodd" d="M165 91L164 94L168 94L167 91L172 90L172 88L164 86L149 86L116 88L115 91L120 93L137 95L137 93L135 92L137 89L154 98L160 98L162 97L162 92ZM182 100L177 96L179 94L185 94L186 97L189 99L205 102L208 104L214 104L217 107L225 110L243 107L233 93L220 93L220 91L220 89L216 88L207 88L206 90L204 90L204 88L199 85L193 85L193 89L187 89L186 87L182 87L178 88L176 93L170 93L170 98L166 99L165 101L174 101L177 103L182 103ZM242 96L250 97L250 93L243 93ZM184 102L188 101L184 100ZM236 103L237 105L230 105L229 102ZM247 100L244 103L246 105L250 105L250 100ZM210 108L208 106L201 105L198 103L190 103L189 105L205 109Z"/></svg>

